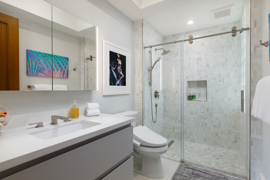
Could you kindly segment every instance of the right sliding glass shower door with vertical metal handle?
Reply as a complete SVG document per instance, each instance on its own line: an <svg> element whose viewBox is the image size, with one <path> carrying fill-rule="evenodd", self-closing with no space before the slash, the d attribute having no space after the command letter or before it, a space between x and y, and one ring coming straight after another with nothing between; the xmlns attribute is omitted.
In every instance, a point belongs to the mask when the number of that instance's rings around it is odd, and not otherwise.
<svg viewBox="0 0 270 180"><path fill-rule="evenodd" d="M248 34L184 42L184 162L241 177L248 172Z"/></svg>

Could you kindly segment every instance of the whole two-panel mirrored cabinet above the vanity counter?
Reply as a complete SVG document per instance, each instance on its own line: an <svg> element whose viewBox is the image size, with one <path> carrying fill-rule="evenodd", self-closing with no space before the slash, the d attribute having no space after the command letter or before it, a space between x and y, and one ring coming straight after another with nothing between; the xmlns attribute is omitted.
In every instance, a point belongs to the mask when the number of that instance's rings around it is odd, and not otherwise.
<svg viewBox="0 0 270 180"><path fill-rule="evenodd" d="M11 16L19 22L18 40L7 38L0 45L7 52L1 63L11 69L5 77L8 87L1 90L96 90L95 26L44 0L0 0L0 13L0 21ZM4 33L9 34L1 37ZM18 50L6 45L11 41L19 41Z"/></svg>

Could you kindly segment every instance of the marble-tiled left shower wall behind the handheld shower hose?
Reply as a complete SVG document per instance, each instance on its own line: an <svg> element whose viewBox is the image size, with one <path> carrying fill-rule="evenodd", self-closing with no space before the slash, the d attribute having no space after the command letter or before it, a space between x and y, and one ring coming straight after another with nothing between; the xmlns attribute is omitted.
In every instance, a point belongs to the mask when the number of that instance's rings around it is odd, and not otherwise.
<svg viewBox="0 0 270 180"><path fill-rule="evenodd" d="M144 44L143 46L149 46L152 43L153 44L159 44L162 43L163 37L154 29L152 26L143 20L143 42L149 42L148 44ZM155 42L153 42L155 41ZM152 44L152 45L153 45ZM160 48L160 47L155 47ZM162 75L162 63L163 63L163 57L161 57L160 50L155 51L155 48L152 48L152 64L150 64L150 53L149 48L143 50L144 54L144 61L143 61L143 108L144 108L144 125L146 125L149 129L152 131L160 134L163 136L163 90L161 85L161 75ZM157 58L161 58L160 61L158 61L155 65L155 67L152 70L152 109L151 109L151 94L150 94L150 65L154 64L155 60ZM154 98L154 91L157 90L159 92L159 99ZM155 104L158 104L157 107L157 121L156 123L153 123L153 120L155 121L156 117L156 107ZM153 114L153 118L152 118Z"/></svg>

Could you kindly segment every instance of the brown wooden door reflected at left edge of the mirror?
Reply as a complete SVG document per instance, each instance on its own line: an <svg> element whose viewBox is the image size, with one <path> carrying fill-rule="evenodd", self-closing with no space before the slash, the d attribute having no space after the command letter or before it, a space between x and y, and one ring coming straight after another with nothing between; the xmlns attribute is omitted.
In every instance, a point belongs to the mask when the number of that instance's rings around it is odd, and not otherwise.
<svg viewBox="0 0 270 180"><path fill-rule="evenodd" d="M0 91L19 90L19 19L0 13Z"/></svg>

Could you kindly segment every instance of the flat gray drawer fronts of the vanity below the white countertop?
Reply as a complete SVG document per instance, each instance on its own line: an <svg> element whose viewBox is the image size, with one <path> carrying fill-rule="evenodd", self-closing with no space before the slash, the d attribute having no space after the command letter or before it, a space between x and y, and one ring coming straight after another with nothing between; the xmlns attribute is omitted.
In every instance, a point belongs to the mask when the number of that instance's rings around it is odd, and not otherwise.
<svg viewBox="0 0 270 180"><path fill-rule="evenodd" d="M133 179L133 131L124 128L3 180Z"/></svg>

